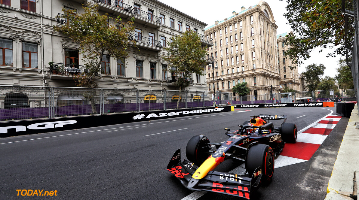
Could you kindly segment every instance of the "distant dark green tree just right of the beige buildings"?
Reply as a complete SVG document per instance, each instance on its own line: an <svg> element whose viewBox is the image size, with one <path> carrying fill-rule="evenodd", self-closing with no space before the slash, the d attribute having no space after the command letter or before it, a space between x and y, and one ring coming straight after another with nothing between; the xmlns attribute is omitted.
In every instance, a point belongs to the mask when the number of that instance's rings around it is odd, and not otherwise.
<svg viewBox="0 0 359 200"><path fill-rule="evenodd" d="M306 71L302 72L302 75L307 80L307 88L309 91L316 90L320 83L320 78L324 74L325 66L323 64L308 65Z"/></svg>

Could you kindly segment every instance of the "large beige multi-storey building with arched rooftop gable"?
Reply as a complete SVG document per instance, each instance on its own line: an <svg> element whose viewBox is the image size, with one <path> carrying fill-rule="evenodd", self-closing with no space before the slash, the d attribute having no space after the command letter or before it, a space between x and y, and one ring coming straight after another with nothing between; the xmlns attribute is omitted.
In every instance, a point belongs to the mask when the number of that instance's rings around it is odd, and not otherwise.
<svg viewBox="0 0 359 200"><path fill-rule="evenodd" d="M205 35L214 41L209 55L218 66L218 70L206 67L209 91L232 92L237 83L248 82L248 95L270 94L271 85L273 92L278 93L281 80L276 49L278 26L270 6L260 1L232 14L205 29Z"/></svg>

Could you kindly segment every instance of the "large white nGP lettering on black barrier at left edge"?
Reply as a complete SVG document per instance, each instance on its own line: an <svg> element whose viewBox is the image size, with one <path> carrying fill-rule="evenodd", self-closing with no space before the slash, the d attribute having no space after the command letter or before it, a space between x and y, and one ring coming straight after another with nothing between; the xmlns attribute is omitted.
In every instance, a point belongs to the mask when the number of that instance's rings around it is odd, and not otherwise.
<svg viewBox="0 0 359 200"><path fill-rule="evenodd" d="M14 128L16 132L25 131L28 129L32 130L38 130L38 129L47 129L47 128L59 128L63 127L67 124L75 124L77 123L76 120L66 120L66 121L57 121L57 122L42 122L42 123L36 123L36 124L30 124L27 127L23 125L17 125L17 126L9 126L9 127L0 127L0 133L8 133L9 129Z"/></svg>

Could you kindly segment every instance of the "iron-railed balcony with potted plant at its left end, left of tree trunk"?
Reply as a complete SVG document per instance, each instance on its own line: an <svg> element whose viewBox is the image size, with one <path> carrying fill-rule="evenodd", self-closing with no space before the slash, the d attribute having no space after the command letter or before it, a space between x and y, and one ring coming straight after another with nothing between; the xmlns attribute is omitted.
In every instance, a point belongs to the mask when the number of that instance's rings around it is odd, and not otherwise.
<svg viewBox="0 0 359 200"><path fill-rule="evenodd" d="M57 79L59 76L63 77L60 79L66 79L66 77L73 78L74 75L79 75L87 72L88 72L87 66L84 65L65 64L58 62L50 63L50 74L52 76L55 75L55 77L57 76Z"/></svg>

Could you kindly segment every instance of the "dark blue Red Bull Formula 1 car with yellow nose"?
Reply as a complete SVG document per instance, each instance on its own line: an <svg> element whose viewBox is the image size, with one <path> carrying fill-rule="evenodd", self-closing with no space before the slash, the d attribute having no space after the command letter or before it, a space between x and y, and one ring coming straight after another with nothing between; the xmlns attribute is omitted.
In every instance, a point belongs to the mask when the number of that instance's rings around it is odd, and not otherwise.
<svg viewBox="0 0 359 200"><path fill-rule="evenodd" d="M205 135L195 135L187 143L188 161L181 161L181 149L177 149L167 170L187 189L250 199L261 184L272 180L274 159L283 150L284 142L297 140L297 127L285 123L286 115L251 116L250 121L238 125L239 130L231 132L226 128L229 138L224 142L211 143ZM269 120L284 121L280 127L274 127ZM226 159L244 162L244 175L213 171Z"/></svg>

